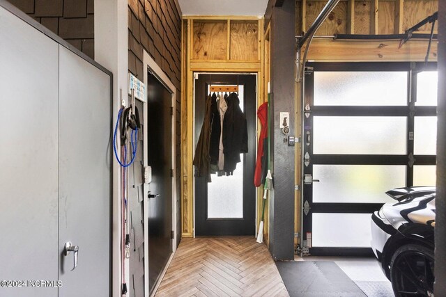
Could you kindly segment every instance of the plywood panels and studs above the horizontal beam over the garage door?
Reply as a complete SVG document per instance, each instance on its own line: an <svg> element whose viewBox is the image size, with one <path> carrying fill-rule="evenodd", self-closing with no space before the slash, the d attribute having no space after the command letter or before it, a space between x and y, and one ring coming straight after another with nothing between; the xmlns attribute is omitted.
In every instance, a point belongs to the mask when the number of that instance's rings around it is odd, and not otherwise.
<svg viewBox="0 0 446 297"><path fill-rule="evenodd" d="M296 31L307 31L327 1L298 0ZM341 0L319 27L316 36L403 33L438 10L438 0ZM426 24L418 33L430 33Z"/></svg>

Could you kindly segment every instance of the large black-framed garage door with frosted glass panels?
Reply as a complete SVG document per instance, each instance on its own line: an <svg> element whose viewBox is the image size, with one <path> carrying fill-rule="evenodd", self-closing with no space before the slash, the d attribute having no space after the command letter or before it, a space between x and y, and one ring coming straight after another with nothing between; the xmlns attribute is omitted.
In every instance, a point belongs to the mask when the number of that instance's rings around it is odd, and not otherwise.
<svg viewBox="0 0 446 297"><path fill-rule="evenodd" d="M303 238L311 255L371 255L370 216L394 201L385 192L431 185L435 106L415 102L417 77L427 73L417 66L309 64Z"/></svg>

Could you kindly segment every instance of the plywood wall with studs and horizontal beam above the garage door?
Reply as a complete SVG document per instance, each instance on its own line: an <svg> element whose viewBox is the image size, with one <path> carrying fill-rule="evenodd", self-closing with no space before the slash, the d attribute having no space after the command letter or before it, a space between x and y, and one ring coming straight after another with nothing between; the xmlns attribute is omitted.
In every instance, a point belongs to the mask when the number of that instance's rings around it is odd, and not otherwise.
<svg viewBox="0 0 446 297"><path fill-rule="evenodd" d="M302 35L327 3L324 0L296 2L297 35ZM341 0L316 31L308 54L312 61L424 61L427 40L332 40L334 34L399 34L438 10L438 0ZM437 32L438 22L434 28ZM426 24L417 33L430 33ZM325 38L324 38L325 37ZM433 42L429 61L436 61Z"/></svg>

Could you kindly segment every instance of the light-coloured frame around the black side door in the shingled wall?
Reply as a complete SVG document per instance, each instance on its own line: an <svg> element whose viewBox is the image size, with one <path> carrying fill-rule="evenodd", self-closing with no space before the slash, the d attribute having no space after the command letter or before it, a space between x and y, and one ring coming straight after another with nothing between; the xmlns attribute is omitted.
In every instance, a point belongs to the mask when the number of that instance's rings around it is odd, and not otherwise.
<svg viewBox="0 0 446 297"><path fill-rule="evenodd" d="M164 85L165 88L167 88L167 90L169 90L169 92L171 93L171 106L174 110L174 114L171 117L171 127L172 127L172 131L171 131L171 161L172 161L172 169L174 170L174 174L172 177L172 218L171 218L171 223L172 223L172 230L174 231L174 238L171 239L171 245L172 245L172 254L169 257L169 260L166 264L166 266L164 267L164 270L162 271L159 281L157 282L157 284L155 284L155 287L153 288L153 295L155 295L157 288L160 285L160 280L162 280L162 278L164 277L164 274L167 271L167 267L169 267L169 264L172 260L172 258L174 257L174 254L176 252L176 239L177 239L177 230L176 230L176 209L177 209L177 203L176 203L176 196L177 196L177 191L176 191L176 175L178 174L178 172L176 172L176 88L174 86L174 83L171 82L171 80L169 79L169 77L167 77L166 74L164 74L164 72L161 70L161 67L159 65L157 65L157 63L155 62L155 60L153 60L153 58L148 54L147 51L143 50L143 73L144 73L144 86L146 87L146 94L144 96L147 95L147 90L148 90L148 71L150 70L151 73ZM143 114L144 114L144 127L148 127L148 109L147 109L147 99L146 97L145 101L143 102ZM145 135L145 134L144 134ZM148 147L146 145L146 138L145 136L143 136L143 143L144 143L144 150L143 150L143 158L144 158L144 167L148 166ZM144 183L144 190L143 190L143 197L146 198L148 195L148 184ZM146 203L146 200L144 200L144 224L146 224L146 214L148 214L148 204ZM144 296L148 297L149 296L149 291L148 291L148 227L144 227Z"/></svg>

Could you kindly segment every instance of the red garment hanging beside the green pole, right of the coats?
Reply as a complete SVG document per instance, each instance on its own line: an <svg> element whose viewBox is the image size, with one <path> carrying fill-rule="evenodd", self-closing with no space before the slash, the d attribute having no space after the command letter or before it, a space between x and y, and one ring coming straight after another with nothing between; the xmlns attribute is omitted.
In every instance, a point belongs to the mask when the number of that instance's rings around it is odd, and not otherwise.
<svg viewBox="0 0 446 297"><path fill-rule="evenodd" d="M261 123L259 145L257 146L256 170L254 171L254 186L265 184L266 177L266 150L265 144L268 143L268 102L263 103L257 110L257 118ZM267 144L268 145L268 144Z"/></svg>

